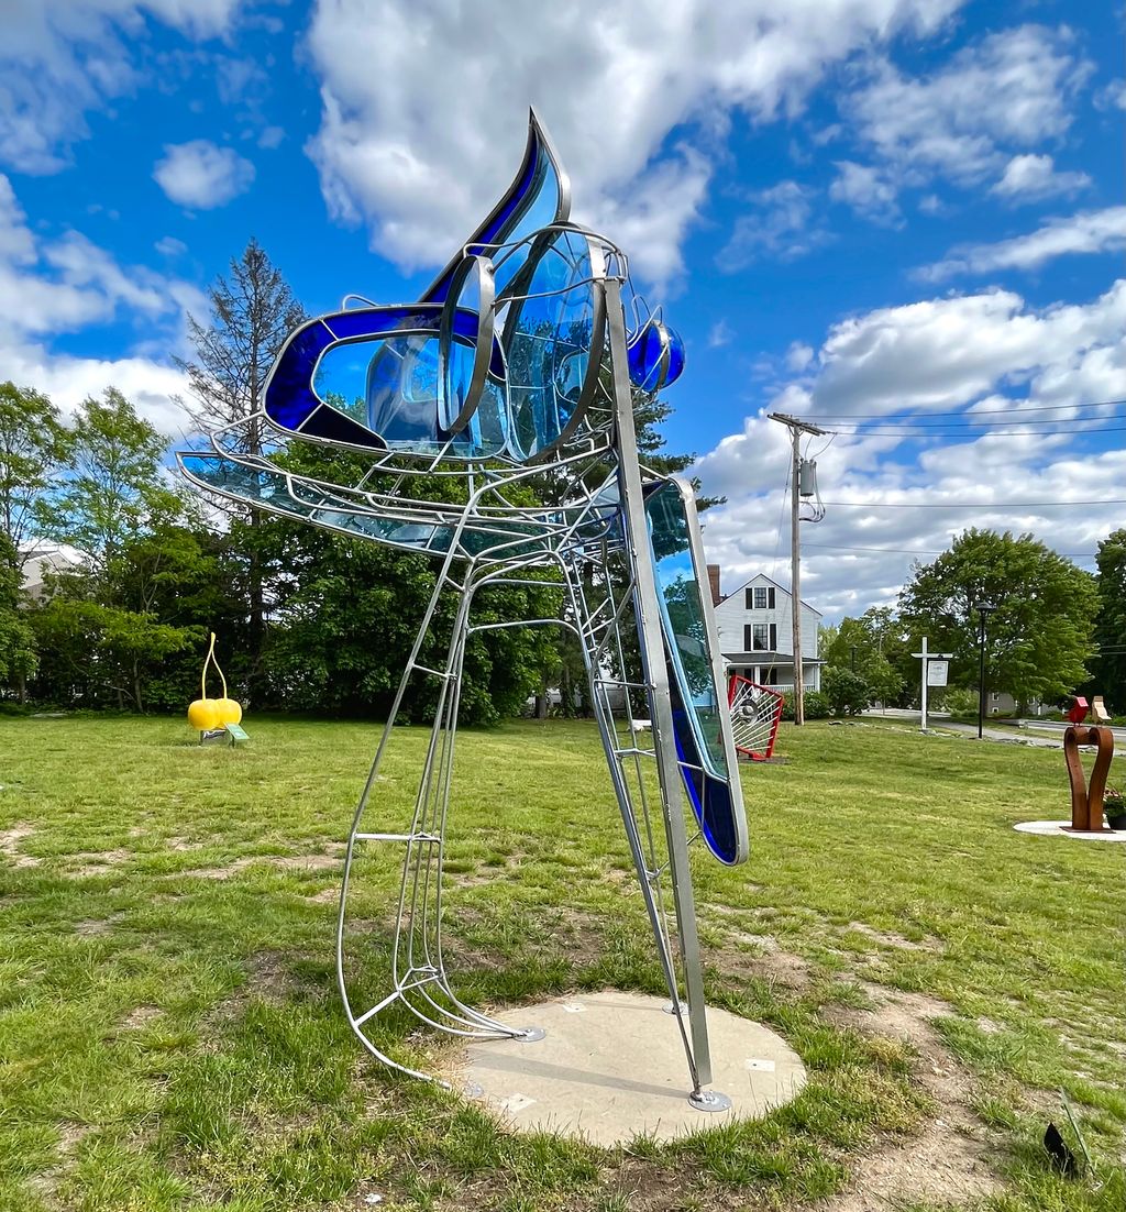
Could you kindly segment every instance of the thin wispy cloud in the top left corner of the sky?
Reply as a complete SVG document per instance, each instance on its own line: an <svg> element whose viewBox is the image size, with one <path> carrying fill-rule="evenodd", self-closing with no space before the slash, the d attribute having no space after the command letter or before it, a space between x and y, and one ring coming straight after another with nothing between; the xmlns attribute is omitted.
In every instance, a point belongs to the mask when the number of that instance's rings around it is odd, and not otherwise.
<svg viewBox="0 0 1126 1212"><path fill-rule="evenodd" d="M85 114L131 92L139 75L122 34L148 18L204 39L223 34L240 0L23 0L4 5L0 162L57 172L88 133Z"/></svg>

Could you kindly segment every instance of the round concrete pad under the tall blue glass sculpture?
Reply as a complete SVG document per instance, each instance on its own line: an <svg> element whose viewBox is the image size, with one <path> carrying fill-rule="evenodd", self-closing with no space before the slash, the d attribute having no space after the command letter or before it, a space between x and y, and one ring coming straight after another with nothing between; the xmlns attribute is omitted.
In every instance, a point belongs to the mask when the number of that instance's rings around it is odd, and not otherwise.
<svg viewBox="0 0 1126 1212"><path fill-rule="evenodd" d="M676 1018L667 1000L606 990L504 1013L542 1027L536 1042L486 1040L461 1054L458 1080L484 1090L508 1126L561 1132L611 1147L647 1133L658 1140L766 1115L796 1097L805 1067L773 1031L724 1010L708 1011L714 1081L725 1111L688 1103L691 1084ZM685 1019L687 1025L687 1019Z"/></svg>

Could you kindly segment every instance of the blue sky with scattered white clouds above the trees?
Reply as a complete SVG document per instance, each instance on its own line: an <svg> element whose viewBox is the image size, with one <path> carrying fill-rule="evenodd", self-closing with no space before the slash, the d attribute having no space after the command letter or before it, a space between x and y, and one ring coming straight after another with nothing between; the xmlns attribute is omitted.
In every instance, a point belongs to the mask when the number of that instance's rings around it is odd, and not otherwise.
<svg viewBox="0 0 1126 1212"><path fill-rule="evenodd" d="M1087 567L1126 525L1054 504L1126 497L1126 407L1090 407L1126 399L1121 5L27 0L0 21L0 378L64 408L113 383L175 434L185 313L252 235L310 311L417 297L535 103L576 217L686 339L668 439L728 498L705 531L726 589L788 574L772 408L842 430L818 470L848 504L804 527L830 619L970 524Z"/></svg>

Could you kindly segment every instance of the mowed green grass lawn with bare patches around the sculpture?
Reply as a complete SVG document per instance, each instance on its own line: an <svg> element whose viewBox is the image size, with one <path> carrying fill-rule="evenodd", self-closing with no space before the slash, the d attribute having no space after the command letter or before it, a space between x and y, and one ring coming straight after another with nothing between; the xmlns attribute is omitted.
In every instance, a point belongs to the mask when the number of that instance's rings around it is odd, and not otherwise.
<svg viewBox="0 0 1126 1212"><path fill-rule="evenodd" d="M1126 846L1011 828L1067 814L1061 753L785 730L789 762L743 772L750 863L693 864L709 1000L785 1035L810 1082L765 1120L600 1150L361 1052L333 891L378 730L246 726L229 750L176 720L0 720L0 1208L1126 1207ZM425 734L398 737L396 811L367 828L404 824ZM458 745L464 993L659 991L593 726ZM394 857L359 873L372 989ZM379 1040L440 1065L415 1027ZM1097 1167L1079 1179L1039 1145L1061 1087Z"/></svg>

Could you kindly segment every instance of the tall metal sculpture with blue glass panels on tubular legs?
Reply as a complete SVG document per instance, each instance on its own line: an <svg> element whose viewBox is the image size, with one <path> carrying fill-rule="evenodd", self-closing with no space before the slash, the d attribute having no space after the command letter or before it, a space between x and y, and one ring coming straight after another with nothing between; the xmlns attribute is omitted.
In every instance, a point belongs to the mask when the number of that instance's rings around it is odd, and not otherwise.
<svg viewBox="0 0 1126 1212"><path fill-rule="evenodd" d="M688 1097L702 1110L721 1110L730 1100L705 1088L711 1067L681 794L724 863L745 859L747 823L710 595L701 593L707 576L695 502L687 485L640 464L634 423L636 399L678 378L684 349L659 311L647 313L631 295L624 253L568 216L567 178L532 114L508 193L419 302L376 307L350 296L344 310L288 337L263 416L252 422L276 435L276 448L245 453L239 428L229 427L211 448L178 458L204 490L440 561L348 839L337 971L365 1047L387 1065L428 1076L373 1041L378 1016L393 1006L467 1039L537 1037L535 1028L501 1022L455 991L442 950L442 863L467 641L485 629L550 623L581 641L684 1042ZM330 370L339 366L356 379L335 391ZM295 440L361 454L364 470L349 484L296 474L284 457ZM562 589L560 617L498 623L474 614L480 590L542 584L545 570ZM457 600L447 659L427 667L421 652L447 594ZM381 762L418 678L436 681L433 731L412 819L385 831ZM646 709L642 726L635 716ZM663 830L651 819L653 765ZM349 887L361 851L388 842L406 850L391 981L385 996L356 1005Z"/></svg>

